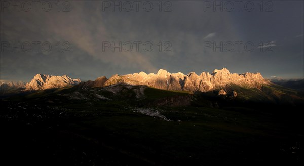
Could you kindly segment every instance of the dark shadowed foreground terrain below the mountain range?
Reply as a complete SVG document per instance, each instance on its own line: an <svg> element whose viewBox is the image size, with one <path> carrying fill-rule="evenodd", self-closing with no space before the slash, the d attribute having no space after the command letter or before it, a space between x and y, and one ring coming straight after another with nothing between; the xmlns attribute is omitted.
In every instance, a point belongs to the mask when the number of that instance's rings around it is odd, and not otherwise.
<svg viewBox="0 0 304 166"><path fill-rule="evenodd" d="M113 100L101 96L90 99L75 93L64 95L72 91L69 88L47 95L38 92L2 99L1 162L9 165L303 163L301 106L267 103L238 106L200 99L200 103L211 103L204 106L194 101L199 98L196 95L151 88L145 89L144 100L136 102L132 94L116 98L108 94ZM192 96L188 106L157 106L151 102L187 95Z"/></svg>

